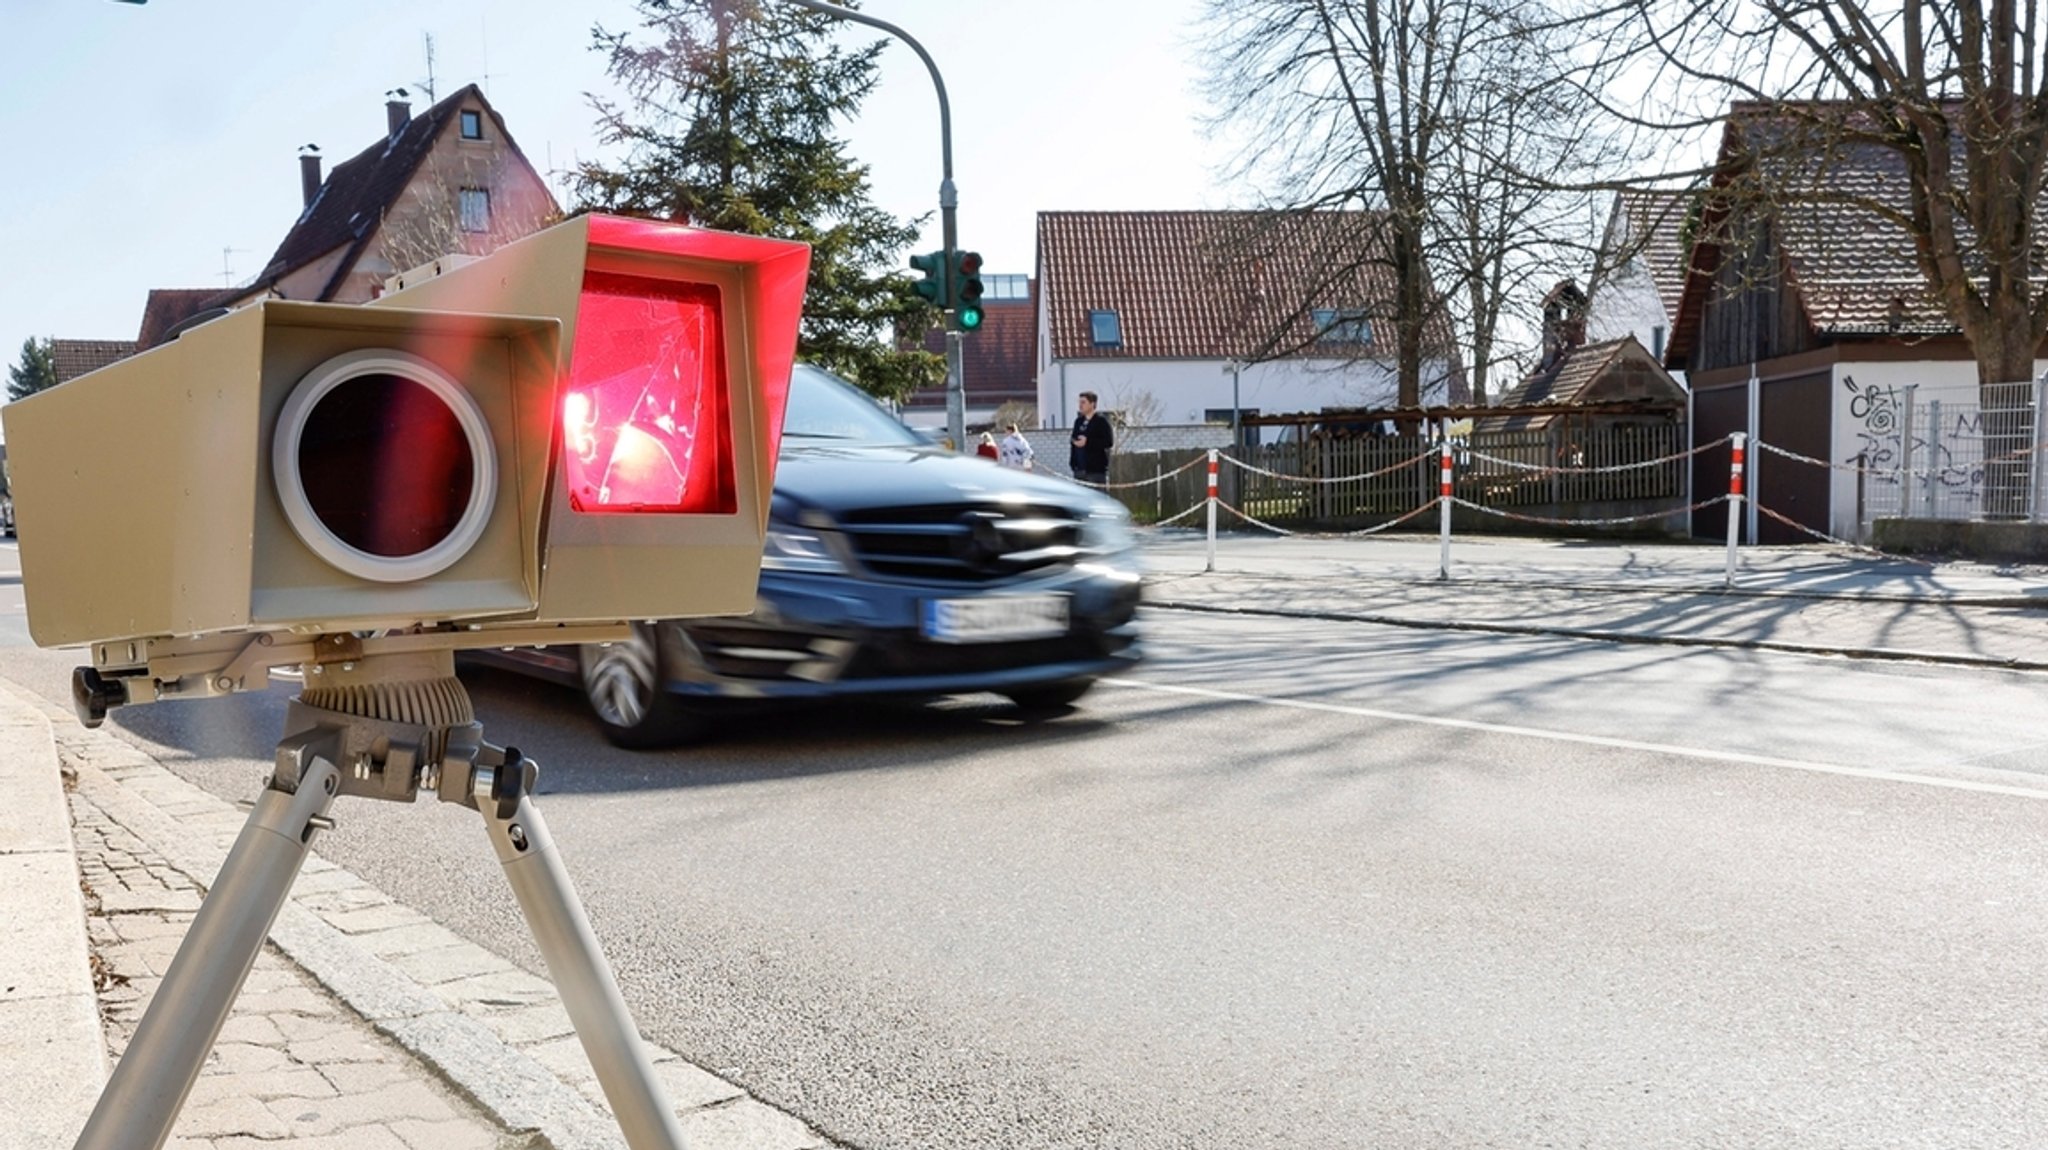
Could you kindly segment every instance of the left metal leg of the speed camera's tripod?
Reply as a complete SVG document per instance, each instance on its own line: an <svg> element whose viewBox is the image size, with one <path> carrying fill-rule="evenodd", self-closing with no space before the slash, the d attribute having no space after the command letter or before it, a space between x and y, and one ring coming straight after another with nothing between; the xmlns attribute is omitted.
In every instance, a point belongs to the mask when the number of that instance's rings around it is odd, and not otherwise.
<svg viewBox="0 0 2048 1150"><path fill-rule="evenodd" d="M78 1150L158 1150L170 1138L270 923L291 896L313 823L334 802L340 784L334 763L303 761L297 792L266 786L256 798L135 1037L106 1078Z"/></svg>

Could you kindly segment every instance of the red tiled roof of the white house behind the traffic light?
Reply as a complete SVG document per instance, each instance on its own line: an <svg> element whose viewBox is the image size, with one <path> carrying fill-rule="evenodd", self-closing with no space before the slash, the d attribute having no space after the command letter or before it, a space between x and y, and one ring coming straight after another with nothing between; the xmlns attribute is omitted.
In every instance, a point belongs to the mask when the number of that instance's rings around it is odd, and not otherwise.
<svg viewBox="0 0 2048 1150"><path fill-rule="evenodd" d="M1038 291L1051 358L1391 358L1395 295L1378 213L1044 211ZM1090 311L1116 311L1098 348ZM1313 309L1362 309L1364 344L1315 344ZM1432 323L1450 348L1450 321Z"/></svg>

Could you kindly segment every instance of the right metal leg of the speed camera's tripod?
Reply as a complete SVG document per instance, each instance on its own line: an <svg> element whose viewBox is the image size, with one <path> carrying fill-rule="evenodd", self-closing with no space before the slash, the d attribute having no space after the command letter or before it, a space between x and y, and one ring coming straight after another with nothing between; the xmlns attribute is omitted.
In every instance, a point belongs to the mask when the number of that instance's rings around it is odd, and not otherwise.
<svg viewBox="0 0 2048 1150"><path fill-rule="evenodd" d="M510 804L508 804L510 806ZM612 1103L618 1130L633 1150L682 1150L682 1127L676 1109L653 1076L653 1062L641 1046L639 1027L627 1011L627 1001L604 964L598 937L590 931L584 904L575 898L569 872L561 866L555 839L532 806L518 796L510 814L500 804L481 802L483 825L489 829L498 861L504 864L512 894L526 917L547 974L555 980L561 1005L575 1025L604 1099Z"/></svg>

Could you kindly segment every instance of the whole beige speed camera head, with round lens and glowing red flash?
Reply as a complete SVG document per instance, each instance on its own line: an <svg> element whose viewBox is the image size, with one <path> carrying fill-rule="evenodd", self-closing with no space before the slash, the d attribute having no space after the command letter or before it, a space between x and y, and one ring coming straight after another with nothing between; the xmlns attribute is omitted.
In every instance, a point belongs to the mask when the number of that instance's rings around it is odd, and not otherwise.
<svg viewBox="0 0 2048 1150"><path fill-rule="evenodd" d="M10 403L29 630L172 696L293 636L743 614L807 266L584 215L375 307L256 303Z"/></svg>

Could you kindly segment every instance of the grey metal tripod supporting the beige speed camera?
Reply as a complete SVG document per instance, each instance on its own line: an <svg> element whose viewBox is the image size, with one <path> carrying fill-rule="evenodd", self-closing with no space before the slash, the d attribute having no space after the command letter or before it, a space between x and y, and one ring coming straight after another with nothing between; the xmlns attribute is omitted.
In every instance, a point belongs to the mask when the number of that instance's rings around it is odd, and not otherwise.
<svg viewBox="0 0 2048 1150"><path fill-rule="evenodd" d="M680 1150L555 841L532 804L537 765L483 741L451 651L309 663L276 761L221 874L115 1064L78 1150L158 1150L256 964L313 833L344 794L410 802L432 790L483 816L518 909L633 1150Z"/></svg>

